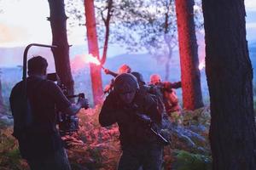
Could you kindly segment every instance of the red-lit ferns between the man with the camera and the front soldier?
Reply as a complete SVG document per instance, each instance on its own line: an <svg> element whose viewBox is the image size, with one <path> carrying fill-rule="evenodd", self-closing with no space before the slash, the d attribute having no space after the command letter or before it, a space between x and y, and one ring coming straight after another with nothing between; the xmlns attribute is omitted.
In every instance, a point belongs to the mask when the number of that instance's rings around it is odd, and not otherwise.
<svg viewBox="0 0 256 170"><path fill-rule="evenodd" d="M80 111L80 128L73 138L82 142L73 143L68 156L73 169L80 166L89 169L114 169L117 166L119 149L119 131L116 125L101 127L98 122L102 105L94 109Z"/></svg>

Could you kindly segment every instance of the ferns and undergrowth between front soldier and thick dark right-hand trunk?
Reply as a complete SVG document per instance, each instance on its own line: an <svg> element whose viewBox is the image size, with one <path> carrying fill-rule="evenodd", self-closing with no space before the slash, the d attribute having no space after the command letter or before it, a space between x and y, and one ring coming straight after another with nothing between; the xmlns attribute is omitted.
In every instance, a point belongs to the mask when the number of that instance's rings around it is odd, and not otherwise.
<svg viewBox="0 0 256 170"><path fill-rule="evenodd" d="M181 114L174 112L169 119L172 121L172 142L169 147L165 147L165 169L210 169L209 107L182 111Z"/></svg>

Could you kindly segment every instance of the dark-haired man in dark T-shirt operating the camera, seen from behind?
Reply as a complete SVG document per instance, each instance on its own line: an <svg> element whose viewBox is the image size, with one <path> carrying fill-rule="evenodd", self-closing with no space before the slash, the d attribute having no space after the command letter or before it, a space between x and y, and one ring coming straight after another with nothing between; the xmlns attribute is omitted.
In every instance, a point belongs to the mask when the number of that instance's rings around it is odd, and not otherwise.
<svg viewBox="0 0 256 170"><path fill-rule="evenodd" d="M46 79L47 66L47 60L41 56L28 60L26 97L29 106L20 101L20 96L24 95L24 82L18 82L12 89L9 101L15 121L13 135L19 141L22 158L26 159L32 170L70 170L56 127L55 107L75 115L81 108L88 108L88 101L80 98L76 105L71 104L61 88ZM32 117L29 126L20 126L27 125L25 122L30 117L24 116L29 115Z"/></svg>

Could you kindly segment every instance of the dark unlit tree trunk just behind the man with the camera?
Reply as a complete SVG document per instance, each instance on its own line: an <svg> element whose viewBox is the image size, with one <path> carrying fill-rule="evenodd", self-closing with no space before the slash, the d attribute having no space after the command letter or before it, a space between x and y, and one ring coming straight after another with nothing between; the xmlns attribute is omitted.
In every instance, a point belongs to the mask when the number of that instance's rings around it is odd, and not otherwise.
<svg viewBox="0 0 256 170"><path fill-rule="evenodd" d="M73 77L69 60L69 45L67 42L67 15L65 14L64 0L48 0L52 44L58 46L53 48L55 57L55 68L61 83L67 87L67 93L73 94Z"/></svg>

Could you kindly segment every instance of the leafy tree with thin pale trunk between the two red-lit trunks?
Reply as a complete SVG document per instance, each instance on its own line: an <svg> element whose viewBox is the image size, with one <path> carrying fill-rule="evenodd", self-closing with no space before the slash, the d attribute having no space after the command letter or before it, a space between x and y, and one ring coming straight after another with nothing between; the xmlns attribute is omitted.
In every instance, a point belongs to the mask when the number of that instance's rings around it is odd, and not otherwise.
<svg viewBox="0 0 256 170"><path fill-rule="evenodd" d="M112 41L131 51L148 50L165 63L169 79L172 50L177 46L176 14L173 0L128 0L113 2Z"/></svg>

